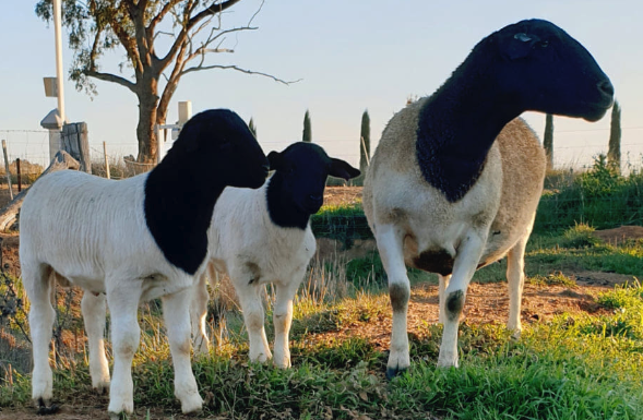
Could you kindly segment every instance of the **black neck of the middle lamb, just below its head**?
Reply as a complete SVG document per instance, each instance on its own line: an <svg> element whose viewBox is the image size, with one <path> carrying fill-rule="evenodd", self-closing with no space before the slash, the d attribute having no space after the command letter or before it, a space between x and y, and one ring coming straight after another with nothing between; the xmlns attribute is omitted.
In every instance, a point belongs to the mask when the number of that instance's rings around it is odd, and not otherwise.
<svg viewBox="0 0 643 420"><path fill-rule="evenodd" d="M310 214L302 212L284 194L283 178L275 172L267 181L265 193L267 214L273 224L283 228L299 228L305 230L310 220Z"/></svg>

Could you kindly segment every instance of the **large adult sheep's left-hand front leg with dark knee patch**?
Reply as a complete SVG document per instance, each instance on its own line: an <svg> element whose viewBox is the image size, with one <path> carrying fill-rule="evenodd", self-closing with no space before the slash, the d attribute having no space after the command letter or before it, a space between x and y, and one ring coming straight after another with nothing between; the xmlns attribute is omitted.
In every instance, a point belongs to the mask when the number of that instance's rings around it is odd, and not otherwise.
<svg viewBox="0 0 643 420"><path fill-rule="evenodd" d="M393 309L391 352L386 364L386 377L392 379L410 365L406 316L410 284L404 265L404 232L394 225L378 226L376 240L382 264L389 276L389 296Z"/></svg>

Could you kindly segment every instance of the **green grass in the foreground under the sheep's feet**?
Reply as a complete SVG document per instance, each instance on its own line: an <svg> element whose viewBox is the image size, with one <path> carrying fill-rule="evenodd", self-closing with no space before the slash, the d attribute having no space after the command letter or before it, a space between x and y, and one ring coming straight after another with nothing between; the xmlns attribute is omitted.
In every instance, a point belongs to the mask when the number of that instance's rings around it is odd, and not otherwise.
<svg viewBox="0 0 643 420"><path fill-rule="evenodd" d="M289 370L248 363L237 350L200 358L193 368L209 416L641 419L643 288L617 288L600 302L617 311L571 321L561 315L527 328L517 341L501 327L465 324L460 369L436 368L440 327L427 326L422 338L412 336L412 369L392 382L383 376L385 355L362 338L302 336L293 344ZM350 317L344 322L360 322L368 307L360 299L342 304ZM610 332L618 323L629 327ZM179 409L167 356L136 358L133 375L136 405ZM66 403L90 393L83 363L56 371L55 383L57 399ZM26 404L28 387L28 377L17 375L12 387L0 389L0 406Z"/></svg>

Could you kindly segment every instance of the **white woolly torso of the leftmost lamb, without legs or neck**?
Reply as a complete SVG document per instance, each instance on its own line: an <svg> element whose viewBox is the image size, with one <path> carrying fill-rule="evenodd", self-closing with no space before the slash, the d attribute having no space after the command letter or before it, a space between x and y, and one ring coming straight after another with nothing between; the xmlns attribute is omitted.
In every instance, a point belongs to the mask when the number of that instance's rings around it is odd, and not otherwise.
<svg viewBox="0 0 643 420"><path fill-rule="evenodd" d="M162 256L145 225L144 181L67 170L39 179L21 209L21 261L49 264L73 280L104 277L122 255Z"/></svg>

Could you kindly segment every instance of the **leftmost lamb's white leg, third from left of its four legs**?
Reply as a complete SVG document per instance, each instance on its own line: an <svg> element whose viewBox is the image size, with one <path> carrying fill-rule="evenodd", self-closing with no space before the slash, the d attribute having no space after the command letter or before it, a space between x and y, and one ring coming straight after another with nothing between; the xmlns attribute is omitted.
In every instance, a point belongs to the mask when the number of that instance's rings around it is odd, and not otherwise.
<svg viewBox="0 0 643 420"><path fill-rule="evenodd" d="M111 344L114 372L109 386L110 413L131 413L134 410L132 360L141 340L141 328L136 319L141 284L132 279L118 281L106 278L107 304L111 315ZM111 287L110 287L111 286Z"/></svg>

